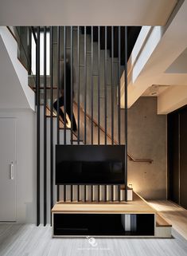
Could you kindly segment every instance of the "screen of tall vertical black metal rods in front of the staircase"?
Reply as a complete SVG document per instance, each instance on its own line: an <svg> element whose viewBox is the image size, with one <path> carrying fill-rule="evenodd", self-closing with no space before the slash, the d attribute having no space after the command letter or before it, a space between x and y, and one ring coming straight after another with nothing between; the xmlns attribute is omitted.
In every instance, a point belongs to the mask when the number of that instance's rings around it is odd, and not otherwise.
<svg viewBox="0 0 187 256"><path fill-rule="evenodd" d="M37 31L37 33L35 33ZM32 28L37 43L36 59L36 104L37 104L37 225L48 222L48 195L50 208L57 201L77 200L121 201L121 187L115 185L57 186L54 190L54 144L125 144L125 200L127 201L127 27L43 27L42 49L44 54L44 108L43 144L41 141L41 70L40 37L41 27ZM49 33L49 77L47 74L47 33ZM122 48L122 44L124 47ZM76 47L76 51L75 51ZM124 53L124 54L123 54ZM124 60L124 123L121 124L121 69ZM70 65L70 81L67 73ZM75 69L73 66L75 65ZM74 77L76 89L74 91ZM68 87L70 86L70 87ZM70 88L70 100L67 99ZM49 90L48 90L49 89ZM48 93L49 92L49 93ZM75 96L74 96L75 94ZM56 114L53 104L56 99ZM70 101L70 102L68 102ZM48 103L50 102L49 106ZM54 104L55 106L55 104ZM62 108L63 107L63 108ZM64 117L61 116L63 109ZM70 116L68 116L70 115ZM74 131L73 117L76 116L77 131ZM66 124L66 116L71 126ZM49 122L47 118L49 117ZM56 122L53 122L56 117ZM48 128L49 124L49 128ZM56 125L53 128L53 125ZM48 136L49 131L49 138ZM55 133L56 132L56 133ZM62 135L61 133L62 132ZM124 141L122 141L124 132ZM54 136L54 134L56 134ZM48 140L49 139L49 140ZM49 141L49 144L47 143ZM41 192L41 146L43 152L44 187ZM49 150L48 150L49 147ZM48 167L48 153L50 157ZM49 174L48 171L49 170ZM50 184L47 183L47 176ZM61 189L63 187L63 189ZM69 188L69 190L68 190ZM76 190L75 190L76 188ZM97 189L96 189L97 188ZM48 193L48 189L50 193ZM116 192L116 189L118 189ZM64 194L62 192L64 191ZM41 216L41 193L43 193L43 217ZM95 196L97 195L97 197Z"/></svg>

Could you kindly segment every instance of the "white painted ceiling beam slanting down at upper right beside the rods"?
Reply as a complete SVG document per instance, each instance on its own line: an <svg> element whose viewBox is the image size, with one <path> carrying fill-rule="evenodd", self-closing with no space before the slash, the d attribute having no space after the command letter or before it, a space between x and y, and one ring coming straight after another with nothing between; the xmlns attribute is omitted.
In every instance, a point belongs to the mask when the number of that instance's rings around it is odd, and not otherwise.
<svg viewBox="0 0 187 256"><path fill-rule="evenodd" d="M179 57L187 47L187 33L185 33L187 23L186 14L187 1L183 2L181 8L177 11L177 14L167 28L160 27L161 37L160 41L157 41L156 46L154 37L152 38L152 43L144 43L143 49L141 49L141 52L138 54L139 61L136 60L134 68L129 74L130 77L128 77L128 107L131 107L131 105L138 100L138 97L142 96L142 93L151 85L187 85L186 73L166 73L169 66L176 61L177 57ZM150 52L150 47L154 49L152 53ZM146 60L146 57L149 56L148 53L150 53L150 57ZM137 64L139 70L135 68ZM136 70L136 75L133 77L134 70ZM121 82L123 85L123 81ZM169 89L166 89L166 92L168 90ZM123 108L123 95L121 103L121 107ZM162 112L161 108L159 109L159 112Z"/></svg>

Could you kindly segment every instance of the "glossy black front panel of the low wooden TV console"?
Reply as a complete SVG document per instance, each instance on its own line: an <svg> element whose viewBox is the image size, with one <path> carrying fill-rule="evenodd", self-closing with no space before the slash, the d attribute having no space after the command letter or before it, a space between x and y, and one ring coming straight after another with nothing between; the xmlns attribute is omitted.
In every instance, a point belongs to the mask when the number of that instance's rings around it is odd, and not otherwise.
<svg viewBox="0 0 187 256"><path fill-rule="evenodd" d="M154 214L53 214L53 236L154 236ZM134 222L135 220L135 222Z"/></svg>

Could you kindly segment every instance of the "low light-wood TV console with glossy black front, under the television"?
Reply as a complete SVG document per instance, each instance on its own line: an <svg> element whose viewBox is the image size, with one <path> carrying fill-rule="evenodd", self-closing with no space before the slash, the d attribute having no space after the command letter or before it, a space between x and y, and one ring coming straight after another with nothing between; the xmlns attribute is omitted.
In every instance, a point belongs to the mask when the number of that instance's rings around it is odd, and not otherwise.
<svg viewBox="0 0 187 256"><path fill-rule="evenodd" d="M158 230L157 211L138 194L133 197L131 202L56 203L53 237L170 237L171 226Z"/></svg>

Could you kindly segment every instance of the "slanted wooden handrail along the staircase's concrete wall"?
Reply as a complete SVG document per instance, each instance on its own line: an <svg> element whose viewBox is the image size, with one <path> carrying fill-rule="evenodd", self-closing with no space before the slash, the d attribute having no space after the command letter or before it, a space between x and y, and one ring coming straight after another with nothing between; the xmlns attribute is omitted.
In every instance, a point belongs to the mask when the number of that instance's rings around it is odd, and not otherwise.
<svg viewBox="0 0 187 256"><path fill-rule="evenodd" d="M73 101L73 103L76 104L76 106L77 106L76 101ZM84 109L83 109L81 106L80 106L80 110L81 110L82 112L84 112ZM86 116L88 117L89 120L91 120L91 121L93 120L93 124L95 124L95 126L99 127L99 129L100 129L102 132L105 133L104 128L103 128L101 125L99 125L96 120L92 119L92 116L90 116L87 112L86 112ZM108 137L110 140L112 140L111 134L109 134L108 132L107 132L107 137ZM117 140L114 140L114 144L115 144L115 145L118 145ZM131 160L131 161L133 161L133 162L153 163L153 161L154 161L154 160L148 160L148 159L134 159L134 157L131 156L131 154L129 154L129 153L127 153L127 156L129 157L129 160Z"/></svg>

